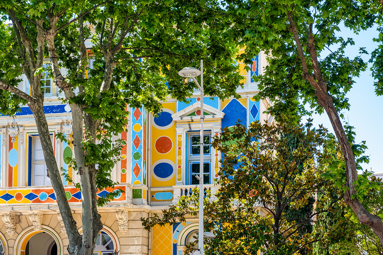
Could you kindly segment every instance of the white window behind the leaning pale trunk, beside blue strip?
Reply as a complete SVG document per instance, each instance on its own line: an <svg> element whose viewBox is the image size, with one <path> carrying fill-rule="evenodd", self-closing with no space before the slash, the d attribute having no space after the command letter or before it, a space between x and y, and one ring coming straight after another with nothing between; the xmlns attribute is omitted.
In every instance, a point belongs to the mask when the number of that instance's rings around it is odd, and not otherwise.
<svg viewBox="0 0 383 255"><path fill-rule="evenodd" d="M51 137L53 144L53 137ZM47 177L47 166L41 146L40 137L33 137L32 151L32 185L33 186L51 186L51 179Z"/></svg>

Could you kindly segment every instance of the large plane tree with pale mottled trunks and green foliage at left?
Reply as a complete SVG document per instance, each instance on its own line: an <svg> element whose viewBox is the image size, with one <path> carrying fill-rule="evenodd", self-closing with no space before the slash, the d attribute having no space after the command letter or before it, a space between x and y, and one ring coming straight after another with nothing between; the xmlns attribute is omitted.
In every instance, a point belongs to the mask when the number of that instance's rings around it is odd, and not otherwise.
<svg viewBox="0 0 383 255"><path fill-rule="evenodd" d="M206 94L228 97L239 85L232 58L236 48L221 42L214 28L207 29L207 21L214 18L213 12L200 15L200 10L210 8L207 3L193 4L199 9L196 13L190 12L191 4L0 2L1 111L13 115L27 104L33 112L71 255L93 254L102 228L97 206L116 195L97 199L96 192L115 185L111 168L119 160L122 141L111 142L110 138L126 127L127 106L143 105L155 114L161 108L159 101L168 96L185 100L193 83L185 83L177 71L190 65L198 67L200 59L205 60ZM89 49L92 70L88 67ZM44 72L54 79L59 97L72 111L71 164L79 174L82 192L82 234L65 197L44 114ZM18 88L22 75L29 82L30 93ZM65 140L64 136L59 138Z"/></svg>

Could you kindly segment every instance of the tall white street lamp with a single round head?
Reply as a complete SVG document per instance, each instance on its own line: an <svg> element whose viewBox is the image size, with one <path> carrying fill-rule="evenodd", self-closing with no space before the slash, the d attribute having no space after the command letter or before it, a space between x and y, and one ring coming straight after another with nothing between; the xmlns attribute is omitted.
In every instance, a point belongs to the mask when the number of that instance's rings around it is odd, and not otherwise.
<svg viewBox="0 0 383 255"><path fill-rule="evenodd" d="M193 79L193 81L201 91L200 177L198 177L197 175L196 177L200 181L200 210L198 213L198 254L203 255L203 60L201 60L201 71L194 67L185 67L178 72L178 75L185 78ZM195 77L199 75L201 75L201 86L195 79Z"/></svg>

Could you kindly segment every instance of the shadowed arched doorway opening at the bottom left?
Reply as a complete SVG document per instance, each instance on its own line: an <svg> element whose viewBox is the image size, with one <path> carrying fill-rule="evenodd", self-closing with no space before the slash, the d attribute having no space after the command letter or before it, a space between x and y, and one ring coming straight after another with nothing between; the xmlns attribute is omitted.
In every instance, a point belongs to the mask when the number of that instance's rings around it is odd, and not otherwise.
<svg viewBox="0 0 383 255"><path fill-rule="evenodd" d="M57 255L57 244L47 232L39 232L29 238L25 255Z"/></svg>

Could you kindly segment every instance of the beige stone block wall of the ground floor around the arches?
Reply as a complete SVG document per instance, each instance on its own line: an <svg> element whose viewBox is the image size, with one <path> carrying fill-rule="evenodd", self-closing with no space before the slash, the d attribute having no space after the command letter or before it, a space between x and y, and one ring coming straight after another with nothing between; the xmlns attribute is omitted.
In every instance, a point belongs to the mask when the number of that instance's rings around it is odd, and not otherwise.
<svg viewBox="0 0 383 255"><path fill-rule="evenodd" d="M101 222L104 226L108 227L111 231L114 232L115 237L117 237L119 242L119 255L146 255L148 254L148 231L146 231L141 224L141 217L148 217L148 213L143 211L129 211L128 212L128 231L126 233L121 233L118 228L118 220L116 218L116 213L114 211L108 213L100 213ZM75 221L77 222L77 228L82 227L82 215L79 213L73 214ZM20 233L28 228L33 226L33 223L30 221L28 214L20 215L20 223L16 224L16 233L13 236L9 236L6 231L6 226L0 217L0 232L6 239L8 244L7 255L14 254L14 246L17 237ZM61 232L61 224L57 218L57 214L43 214L42 220L43 226L51 227L56 231L58 237L62 241L63 249L62 254L67 255L67 247L69 244L68 237ZM113 238L112 238L113 239Z"/></svg>

